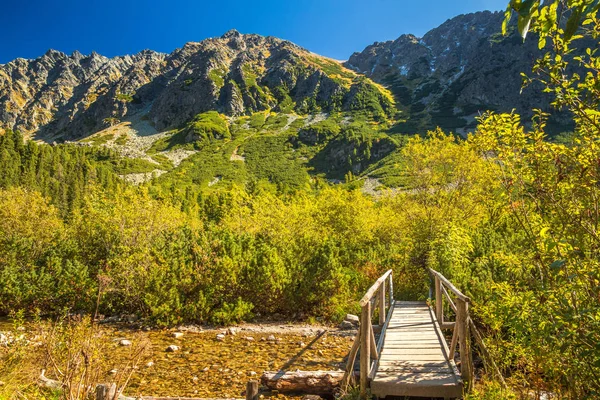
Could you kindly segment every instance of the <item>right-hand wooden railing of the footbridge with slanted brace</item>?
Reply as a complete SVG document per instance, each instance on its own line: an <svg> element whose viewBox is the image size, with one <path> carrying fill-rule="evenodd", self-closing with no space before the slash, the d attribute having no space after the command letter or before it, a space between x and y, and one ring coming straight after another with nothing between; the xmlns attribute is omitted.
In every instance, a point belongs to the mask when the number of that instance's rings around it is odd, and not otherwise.
<svg viewBox="0 0 600 400"><path fill-rule="evenodd" d="M504 377L498 369L498 366L492 359L487 350L483 337L477 331L475 323L469 316L469 303L471 299L458 290L452 282L439 272L429 269L429 272L435 280L435 316L442 329L452 329L452 340L450 341L448 359L454 360L456 345L458 342L460 352L460 373L464 381L468 383L468 389L473 386L473 355L471 353L471 335L475 338L477 346L481 350L481 356L486 370L490 369L496 375L502 387L506 387ZM454 299L450 293L454 296ZM449 307L456 315L455 322L446 322L444 320L444 299L448 301Z"/></svg>

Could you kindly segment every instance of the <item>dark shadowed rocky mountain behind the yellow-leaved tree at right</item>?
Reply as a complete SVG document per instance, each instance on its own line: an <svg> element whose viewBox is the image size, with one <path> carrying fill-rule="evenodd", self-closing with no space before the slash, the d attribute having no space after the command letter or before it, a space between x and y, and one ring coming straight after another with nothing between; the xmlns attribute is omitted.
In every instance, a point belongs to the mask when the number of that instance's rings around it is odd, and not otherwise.
<svg viewBox="0 0 600 400"><path fill-rule="evenodd" d="M511 27L501 34L500 12L459 15L422 38L402 35L376 42L354 53L345 66L388 87L403 112L395 130L422 133L436 126L466 133L482 111L525 117L533 108L548 109L539 88L521 92L521 72L529 72L542 54L537 40L522 41ZM568 118L552 122L555 131L569 129Z"/></svg>

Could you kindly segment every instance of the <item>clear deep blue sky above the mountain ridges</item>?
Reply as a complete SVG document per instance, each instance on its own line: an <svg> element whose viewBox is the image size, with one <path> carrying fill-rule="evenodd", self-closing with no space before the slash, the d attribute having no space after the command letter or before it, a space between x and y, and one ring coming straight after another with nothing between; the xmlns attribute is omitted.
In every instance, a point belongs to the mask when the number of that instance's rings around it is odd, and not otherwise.
<svg viewBox="0 0 600 400"><path fill-rule="evenodd" d="M423 35L459 14L501 10L508 0L24 0L0 13L0 63L52 48L106 56L171 52L235 28L288 39L347 59L375 41Z"/></svg>

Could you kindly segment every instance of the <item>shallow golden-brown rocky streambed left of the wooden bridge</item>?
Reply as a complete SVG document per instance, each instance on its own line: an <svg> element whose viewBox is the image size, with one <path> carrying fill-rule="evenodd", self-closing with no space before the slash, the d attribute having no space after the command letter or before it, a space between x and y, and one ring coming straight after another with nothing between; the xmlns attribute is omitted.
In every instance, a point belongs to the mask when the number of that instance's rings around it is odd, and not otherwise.
<svg viewBox="0 0 600 400"><path fill-rule="evenodd" d="M8 325L0 323L0 331L12 337ZM146 345L126 395L205 398L244 397L248 380L259 379L264 371L343 369L356 333L296 324L171 330L107 324L101 326L101 332L106 382L131 368L128 362L138 344Z"/></svg>

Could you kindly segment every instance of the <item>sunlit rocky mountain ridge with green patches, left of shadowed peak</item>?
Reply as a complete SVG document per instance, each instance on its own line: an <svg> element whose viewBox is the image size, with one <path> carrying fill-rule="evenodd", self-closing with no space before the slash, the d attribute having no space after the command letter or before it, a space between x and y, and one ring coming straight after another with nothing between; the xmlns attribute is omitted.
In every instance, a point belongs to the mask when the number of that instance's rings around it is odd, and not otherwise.
<svg viewBox="0 0 600 400"><path fill-rule="evenodd" d="M50 50L0 66L1 128L78 139L141 115L157 131L197 114L273 110L393 115L391 96L339 62L273 37L232 30L171 54L107 58Z"/></svg>

